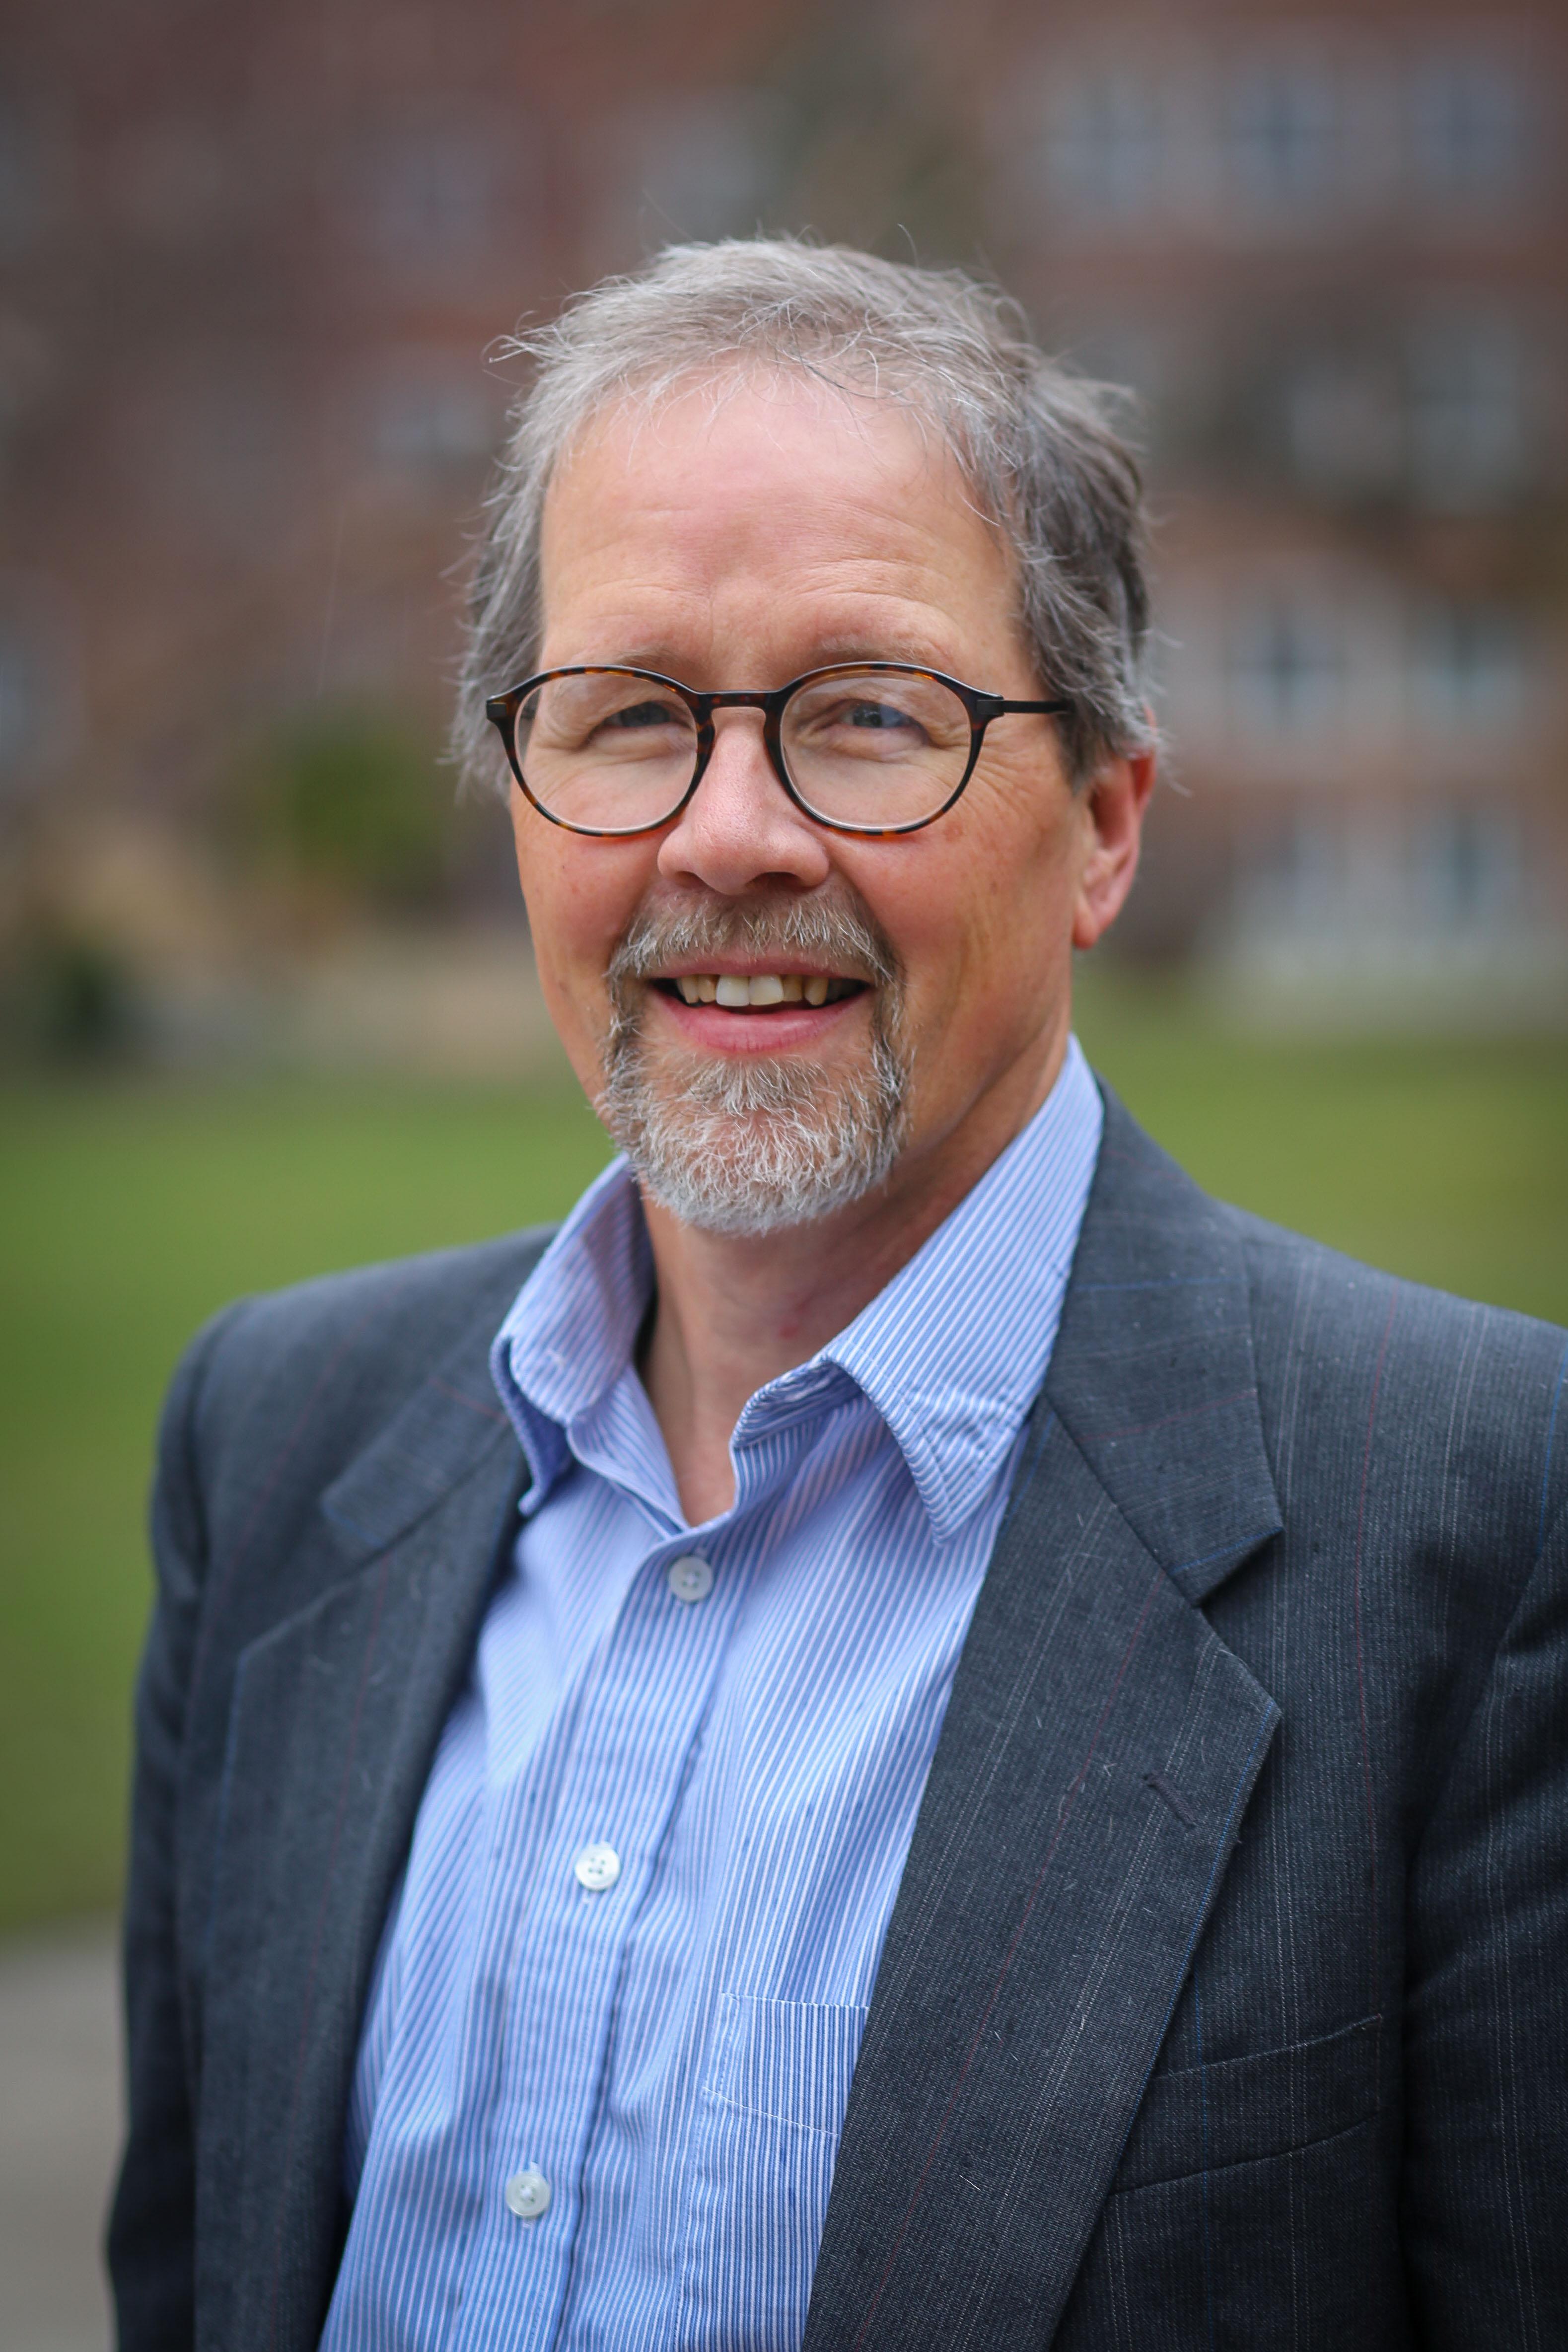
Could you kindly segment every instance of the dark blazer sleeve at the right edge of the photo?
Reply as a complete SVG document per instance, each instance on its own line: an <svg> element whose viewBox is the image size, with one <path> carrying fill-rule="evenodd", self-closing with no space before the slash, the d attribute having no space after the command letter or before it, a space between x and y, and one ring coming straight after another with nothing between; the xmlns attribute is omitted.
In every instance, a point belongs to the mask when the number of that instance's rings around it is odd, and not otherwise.
<svg viewBox="0 0 1568 2352"><path fill-rule="evenodd" d="M1418 2343L1561 2343L1568 2312L1568 1510L1415 1853L1403 2234Z"/></svg>

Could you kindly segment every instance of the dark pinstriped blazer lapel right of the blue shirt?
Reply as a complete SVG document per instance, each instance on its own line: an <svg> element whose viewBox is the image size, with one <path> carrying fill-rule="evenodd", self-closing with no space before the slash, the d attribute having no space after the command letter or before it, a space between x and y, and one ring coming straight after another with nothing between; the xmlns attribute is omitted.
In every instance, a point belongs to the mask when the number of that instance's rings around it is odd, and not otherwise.
<svg viewBox="0 0 1568 2352"><path fill-rule="evenodd" d="M1279 1719L1194 1599L1276 1529L1239 1247L1110 1101L889 1924L806 2352L1051 2340Z"/></svg>

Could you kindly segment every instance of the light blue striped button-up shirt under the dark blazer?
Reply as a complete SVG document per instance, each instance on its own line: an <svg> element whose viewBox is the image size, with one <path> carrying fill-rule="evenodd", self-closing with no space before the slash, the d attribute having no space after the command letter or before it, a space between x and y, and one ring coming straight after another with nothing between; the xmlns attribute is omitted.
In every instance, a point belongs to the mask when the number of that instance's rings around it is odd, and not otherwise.
<svg viewBox="0 0 1568 2352"><path fill-rule="evenodd" d="M1077 1042L682 1519L616 1162L494 1374L531 1484L381 1945L327 2352L795 2352L860 2027L1100 1148Z"/></svg>

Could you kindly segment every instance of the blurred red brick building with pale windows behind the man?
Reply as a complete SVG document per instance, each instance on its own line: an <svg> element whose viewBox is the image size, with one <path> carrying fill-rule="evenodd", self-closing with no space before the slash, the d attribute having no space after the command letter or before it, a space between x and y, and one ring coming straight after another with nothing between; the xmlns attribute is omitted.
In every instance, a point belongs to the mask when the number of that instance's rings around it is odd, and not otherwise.
<svg viewBox="0 0 1568 2352"><path fill-rule="evenodd" d="M14 0L0 793L200 826L435 739L484 350L670 235L980 259L1143 395L1185 800L1128 924L1547 985L1568 915L1559 9Z"/></svg>

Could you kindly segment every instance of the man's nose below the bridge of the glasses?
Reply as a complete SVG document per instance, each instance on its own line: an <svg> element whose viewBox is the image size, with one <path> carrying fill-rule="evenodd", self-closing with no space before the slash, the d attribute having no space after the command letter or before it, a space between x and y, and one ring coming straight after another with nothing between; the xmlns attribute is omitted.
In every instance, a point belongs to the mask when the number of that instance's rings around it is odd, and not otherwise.
<svg viewBox="0 0 1568 2352"><path fill-rule="evenodd" d="M827 835L773 774L762 713L715 710L712 727L712 757L658 844L658 873L726 898L759 884L816 889L832 870Z"/></svg>

